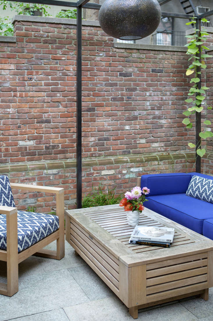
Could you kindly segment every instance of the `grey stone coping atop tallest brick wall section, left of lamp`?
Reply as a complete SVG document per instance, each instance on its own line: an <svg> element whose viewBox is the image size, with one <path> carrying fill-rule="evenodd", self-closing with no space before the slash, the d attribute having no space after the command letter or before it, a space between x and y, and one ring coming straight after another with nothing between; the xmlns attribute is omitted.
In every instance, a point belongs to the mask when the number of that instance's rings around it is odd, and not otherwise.
<svg viewBox="0 0 213 321"><path fill-rule="evenodd" d="M12 17L12 23L16 21L28 21L28 22L43 22L43 23L59 23L59 24L72 24L76 25L76 19L67 18L53 18L53 17L39 17L39 16L27 16L25 14L16 14ZM96 26L100 27L99 21L95 20L82 20L83 26Z"/></svg>

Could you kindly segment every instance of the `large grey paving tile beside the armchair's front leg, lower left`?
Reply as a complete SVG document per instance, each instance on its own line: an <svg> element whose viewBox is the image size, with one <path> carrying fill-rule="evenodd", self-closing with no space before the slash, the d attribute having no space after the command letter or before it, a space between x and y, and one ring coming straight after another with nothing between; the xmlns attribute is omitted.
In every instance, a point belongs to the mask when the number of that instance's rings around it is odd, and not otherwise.
<svg viewBox="0 0 213 321"><path fill-rule="evenodd" d="M0 321L88 301L67 270L36 274L23 279L11 298L0 295Z"/></svg>

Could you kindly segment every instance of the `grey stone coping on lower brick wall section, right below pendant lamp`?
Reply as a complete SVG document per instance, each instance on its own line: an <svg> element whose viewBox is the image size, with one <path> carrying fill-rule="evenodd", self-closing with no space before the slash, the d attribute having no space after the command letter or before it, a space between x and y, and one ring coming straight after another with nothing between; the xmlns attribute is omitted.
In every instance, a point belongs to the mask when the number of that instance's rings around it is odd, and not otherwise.
<svg viewBox="0 0 213 321"><path fill-rule="evenodd" d="M141 43L114 42L114 48L131 48L131 49L144 49L144 50L185 51L186 52L186 48L182 46L144 45Z"/></svg>

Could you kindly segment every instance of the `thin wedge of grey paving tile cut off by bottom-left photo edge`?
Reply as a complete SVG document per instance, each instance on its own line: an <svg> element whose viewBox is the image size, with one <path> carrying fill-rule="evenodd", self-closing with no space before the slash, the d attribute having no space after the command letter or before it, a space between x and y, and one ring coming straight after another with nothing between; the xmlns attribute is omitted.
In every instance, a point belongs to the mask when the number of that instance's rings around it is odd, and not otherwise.
<svg viewBox="0 0 213 321"><path fill-rule="evenodd" d="M33 315L10 319L10 321L69 321L62 308ZM80 321L80 320L79 320Z"/></svg>

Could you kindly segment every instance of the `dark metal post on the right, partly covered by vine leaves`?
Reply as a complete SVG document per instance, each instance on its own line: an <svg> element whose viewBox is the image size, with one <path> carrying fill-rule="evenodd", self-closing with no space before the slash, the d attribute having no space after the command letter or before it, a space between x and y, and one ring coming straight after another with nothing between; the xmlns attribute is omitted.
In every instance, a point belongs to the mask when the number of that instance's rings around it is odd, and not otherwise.
<svg viewBox="0 0 213 321"><path fill-rule="evenodd" d="M199 29L198 35L201 35L201 19L197 18L196 21L196 29ZM199 54L196 54L199 58L201 58L201 45L198 46L199 48ZM197 72L201 72L201 67L197 66ZM197 77L200 79L198 82L198 89L201 89L201 74L198 74ZM199 93L196 94L200 95ZM201 137L199 136L199 133L201 132L201 113L198 113L197 111L195 112L195 145L196 145L196 150L200 148L201 144ZM201 157L197 155L196 153L196 172L200 173L201 172Z"/></svg>

